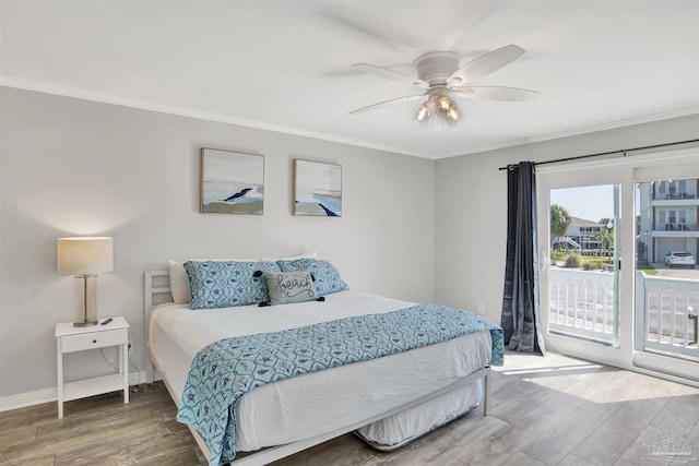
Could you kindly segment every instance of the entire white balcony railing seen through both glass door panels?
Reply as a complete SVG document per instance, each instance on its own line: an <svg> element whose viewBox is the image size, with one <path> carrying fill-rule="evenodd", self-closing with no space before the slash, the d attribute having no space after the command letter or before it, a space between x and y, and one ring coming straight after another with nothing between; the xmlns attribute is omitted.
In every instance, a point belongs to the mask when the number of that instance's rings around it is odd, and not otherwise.
<svg viewBox="0 0 699 466"><path fill-rule="evenodd" d="M614 345L614 274L552 267L553 333ZM699 280L636 275L638 350L699 361Z"/></svg>

